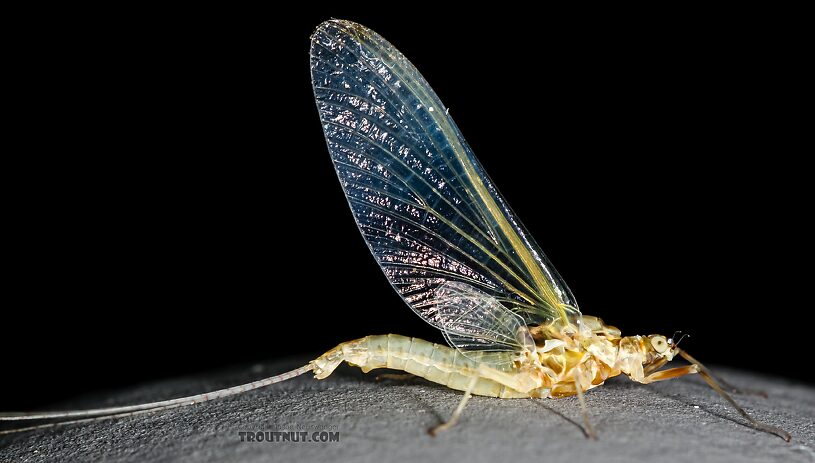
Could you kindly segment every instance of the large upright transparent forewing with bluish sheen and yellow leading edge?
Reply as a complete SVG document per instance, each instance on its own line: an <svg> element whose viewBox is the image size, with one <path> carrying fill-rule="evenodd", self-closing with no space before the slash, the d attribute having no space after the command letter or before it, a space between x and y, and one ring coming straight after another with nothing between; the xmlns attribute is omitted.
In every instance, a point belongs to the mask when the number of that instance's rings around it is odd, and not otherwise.
<svg viewBox="0 0 815 463"><path fill-rule="evenodd" d="M311 39L311 75L357 225L416 313L444 330L434 294L460 282L526 323L580 314L447 109L396 48L359 24L327 21ZM484 89L490 93L499 94Z"/></svg>

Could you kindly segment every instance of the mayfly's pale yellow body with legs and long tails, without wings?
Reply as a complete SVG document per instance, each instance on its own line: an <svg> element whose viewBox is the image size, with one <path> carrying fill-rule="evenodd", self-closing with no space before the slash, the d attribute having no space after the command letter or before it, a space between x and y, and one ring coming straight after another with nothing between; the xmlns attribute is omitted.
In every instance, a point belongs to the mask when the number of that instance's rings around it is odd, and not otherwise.
<svg viewBox="0 0 815 463"><path fill-rule="evenodd" d="M562 397L577 394L583 410L586 435L596 437L586 412L584 391L599 386L607 378L619 374L626 374L634 381L650 383L699 373L754 428L775 434L787 442L791 438L783 429L761 423L739 407L711 373L696 359L679 350L672 339L660 335L621 337L616 328L604 325L598 318L586 316L575 320L574 324L569 323L565 326L559 324L532 328L523 326L518 333L524 335L521 338L524 342L519 346L526 347L519 347L516 352L460 352L447 346L398 334L366 336L344 342L312 360L308 365L295 370L205 394L92 410L0 413L0 421L81 418L76 421L0 431L0 434L72 422L131 416L206 402L269 386L308 371L313 371L317 379L324 379L340 363L348 362L365 372L375 368L402 370L452 389L465 391L450 420L434 427L430 431L433 435L449 429L456 423L472 394L501 398ZM659 371L676 355L681 355L691 364ZM729 385L727 387L734 389Z"/></svg>

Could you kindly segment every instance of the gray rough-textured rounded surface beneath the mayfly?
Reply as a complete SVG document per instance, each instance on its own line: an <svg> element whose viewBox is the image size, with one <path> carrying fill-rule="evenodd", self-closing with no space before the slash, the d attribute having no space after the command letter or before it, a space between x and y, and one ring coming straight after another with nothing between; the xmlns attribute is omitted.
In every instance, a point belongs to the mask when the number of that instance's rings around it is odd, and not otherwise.
<svg viewBox="0 0 815 463"><path fill-rule="evenodd" d="M131 404L203 392L304 364L290 359L144 384L66 407ZM348 366L240 396L141 416L0 436L0 461L588 462L815 461L815 388L735 370L717 371L769 398L738 396L750 413L793 435L786 443L744 424L699 378L643 386L615 378L586 396L599 440L586 439L575 398L474 397L438 437L461 393L420 379L376 381ZM8 426L4 426L8 428ZM248 442L241 432L337 432L339 442ZM245 436L245 434L244 434ZM318 435L319 436L319 435ZM246 439L244 437L244 439Z"/></svg>

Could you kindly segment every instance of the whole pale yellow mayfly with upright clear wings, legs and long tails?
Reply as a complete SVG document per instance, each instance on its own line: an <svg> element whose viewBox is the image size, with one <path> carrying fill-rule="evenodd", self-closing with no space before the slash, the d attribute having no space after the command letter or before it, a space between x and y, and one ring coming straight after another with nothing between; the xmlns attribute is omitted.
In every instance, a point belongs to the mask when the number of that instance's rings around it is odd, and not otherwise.
<svg viewBox="0 0 815 463"><path fill-rule="evenodd" d="M449 346L395 334L344 342L278 376L191 397L95 410L7 413L71 422L204 402L346 362L390 368L471 395L557 398L625 374L648 384L698 373L752 427L785 440L727 394L732 389L662 335L622 336L582 315L569 287L515 217L449 112L416 68L375 32L331 20L311 38L311 76L328 151L360 232L391 285ZM675 357L687 366L661 369ZM42 426L53 426L48 423ZM36 428L38 426L34 426ZM23 429L32 429L23 428ZM19 429L17 430L19 431Z"/></svg>

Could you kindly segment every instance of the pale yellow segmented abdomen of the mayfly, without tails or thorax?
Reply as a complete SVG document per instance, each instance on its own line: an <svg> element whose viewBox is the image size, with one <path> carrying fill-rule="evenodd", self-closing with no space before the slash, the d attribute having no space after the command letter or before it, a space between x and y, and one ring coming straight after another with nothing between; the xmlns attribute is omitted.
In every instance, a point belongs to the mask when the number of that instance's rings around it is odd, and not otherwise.
<svg viewBox="0 0 815 463"><path fill-rule="evenodd" d="M459 391L467 390L479 364L477 353L468 358L441 344L386 334L344 342L321 355L312 362L315 377L327 377L343 361L366 373L376 368L402 370ZM502 398L529 397L487 378L479 378L472 393Z"/></svg>

